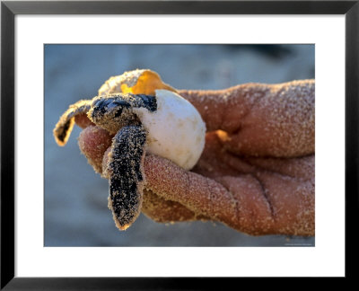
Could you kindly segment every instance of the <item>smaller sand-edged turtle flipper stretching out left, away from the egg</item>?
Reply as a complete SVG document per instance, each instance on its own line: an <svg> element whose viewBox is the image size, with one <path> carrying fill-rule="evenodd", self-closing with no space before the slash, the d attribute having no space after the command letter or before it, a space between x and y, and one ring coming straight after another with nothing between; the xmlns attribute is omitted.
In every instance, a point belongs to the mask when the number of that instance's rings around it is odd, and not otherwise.
<svg viewBox="0 0 359 291"><path fill-rule="evenodd" d="M60 117L56 127L53 130L57 145L66 145L68 137L74 128L74 117L76 115L87 113L91 108L91 100L80 100L70 105L68 110Z"/></svg>

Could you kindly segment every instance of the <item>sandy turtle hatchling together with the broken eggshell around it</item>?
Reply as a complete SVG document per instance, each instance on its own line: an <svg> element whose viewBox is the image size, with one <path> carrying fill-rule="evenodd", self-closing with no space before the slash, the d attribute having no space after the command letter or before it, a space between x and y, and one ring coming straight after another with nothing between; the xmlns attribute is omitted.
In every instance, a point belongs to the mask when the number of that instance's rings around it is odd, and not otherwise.
<svg viewBox="0 0 359 291"><path fill-rule="evenodd" d="M58 145L66 145L75 117L83 113L114 135L106 177L109 208L120 230L127 229L141 211L145 153L189 170L205 145L206 125L198 111L150 70L111 77L98 96L70 105L54 128Z"/></svg>

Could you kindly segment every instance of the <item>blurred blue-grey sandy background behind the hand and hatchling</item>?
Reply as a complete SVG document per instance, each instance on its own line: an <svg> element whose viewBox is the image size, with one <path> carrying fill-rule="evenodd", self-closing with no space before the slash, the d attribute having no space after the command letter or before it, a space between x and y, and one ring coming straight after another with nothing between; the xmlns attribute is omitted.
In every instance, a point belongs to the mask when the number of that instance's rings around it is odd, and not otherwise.
<svg viewBox="0 0 359 291"><path fill-rule="evenodd" d="M91 99L109 76L150 68L177 89L314 78L314 45L45 45L45 246L303 246L313 237L253 237L211 222L157 224L141 215L119 232L108 181L52 129L68 105Z"/></svg>

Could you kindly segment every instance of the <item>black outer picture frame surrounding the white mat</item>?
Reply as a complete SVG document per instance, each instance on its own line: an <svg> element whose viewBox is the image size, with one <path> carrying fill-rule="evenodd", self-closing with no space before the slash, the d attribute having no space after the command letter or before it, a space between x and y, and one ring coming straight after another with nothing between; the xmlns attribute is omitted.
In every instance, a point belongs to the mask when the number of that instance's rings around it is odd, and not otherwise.
<svg viewBox="0 0 359 291"><path fill-rule="evenodd" d="M213 278L14 278L14 16L16 14L345 14L346 278L357 258L359 209L359 0L31 1L1 3L1 289L209 289ZM353 217L354 216L354 217ZM350 219L349 219L350 217ZM351 262L353 264L351 264ZM230 280L226 278L226 280ZM234 279L231 279L234 280ZM190 282L188 282L190 281ZM228 284L235 282L225 282Z"/></svg>

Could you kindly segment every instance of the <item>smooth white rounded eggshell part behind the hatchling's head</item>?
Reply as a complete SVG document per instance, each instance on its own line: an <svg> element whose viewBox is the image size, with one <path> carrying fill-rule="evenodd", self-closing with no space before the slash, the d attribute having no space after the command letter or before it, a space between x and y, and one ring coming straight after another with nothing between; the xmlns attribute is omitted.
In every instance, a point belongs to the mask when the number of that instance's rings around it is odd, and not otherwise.
<svg viewBox="0 0 359 291"><path fill-rule="evenodd" d="M134 109L148 131L147 151L190 170L205 147L206 124L197 109L177 93L156 90L157 110Z"/></svg>

